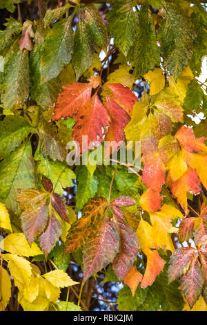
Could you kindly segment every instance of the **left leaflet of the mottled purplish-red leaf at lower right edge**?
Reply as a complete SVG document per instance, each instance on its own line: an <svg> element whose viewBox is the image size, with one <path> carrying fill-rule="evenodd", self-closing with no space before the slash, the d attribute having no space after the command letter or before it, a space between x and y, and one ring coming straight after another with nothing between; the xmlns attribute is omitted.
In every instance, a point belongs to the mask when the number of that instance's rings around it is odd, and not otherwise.
<svg viewBox="0 0 207 325"><path fill-rule="evenodd" d="M170 257L170 265L168 268L168 282L179 279L189 266L193 256L197 250L192 247L178 248Z"/></svg>

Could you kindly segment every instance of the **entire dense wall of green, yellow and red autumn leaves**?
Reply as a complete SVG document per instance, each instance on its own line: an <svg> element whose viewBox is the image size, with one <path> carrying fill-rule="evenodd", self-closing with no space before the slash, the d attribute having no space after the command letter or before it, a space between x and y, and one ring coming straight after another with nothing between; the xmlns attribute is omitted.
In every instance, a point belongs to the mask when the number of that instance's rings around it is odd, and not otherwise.
<svg viewBox="0 0 207 325"><path fill-rule="evenodd" d="M20 12L21 2L0 9ZM0 310L11 279L23 310L80 310L57 302L77 284L73 260L83 284L101 270L104 283L124 282L119 310L206 310L204 6L42 2L39 20L10 17L0 30ZM96 163L69 166L70 140ZM118 165L101 165L106 140L140 141L141 169L110 147Z"/></svg>

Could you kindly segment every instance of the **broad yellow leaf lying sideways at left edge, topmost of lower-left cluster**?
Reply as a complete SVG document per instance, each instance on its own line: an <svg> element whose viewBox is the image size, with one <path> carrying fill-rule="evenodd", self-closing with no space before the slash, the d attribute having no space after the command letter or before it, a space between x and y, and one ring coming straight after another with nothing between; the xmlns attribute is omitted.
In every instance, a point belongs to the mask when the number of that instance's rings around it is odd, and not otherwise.
<svg viewBox="0 0 207 325"><path fill-rule="evenodd" d="M32 243L30 247L26 236L22 232L6 236L6 238L3 239L3 249L6 250L6 252L25 257L43 254L36 243Z"/></svg>

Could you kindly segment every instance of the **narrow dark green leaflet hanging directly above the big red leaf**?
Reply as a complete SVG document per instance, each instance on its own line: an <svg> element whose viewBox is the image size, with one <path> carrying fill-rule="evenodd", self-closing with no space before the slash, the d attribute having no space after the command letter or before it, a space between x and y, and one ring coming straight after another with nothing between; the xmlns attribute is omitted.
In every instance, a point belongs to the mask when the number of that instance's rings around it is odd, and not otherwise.
<svg viewBox="0 0 207 325"><path fill-rule="evenodd" d="M91 66L93 57L93 41L88 24L83 19L80 19L75 32L74 51L72 55L72 66L75 70L77 80Z"/></svg>

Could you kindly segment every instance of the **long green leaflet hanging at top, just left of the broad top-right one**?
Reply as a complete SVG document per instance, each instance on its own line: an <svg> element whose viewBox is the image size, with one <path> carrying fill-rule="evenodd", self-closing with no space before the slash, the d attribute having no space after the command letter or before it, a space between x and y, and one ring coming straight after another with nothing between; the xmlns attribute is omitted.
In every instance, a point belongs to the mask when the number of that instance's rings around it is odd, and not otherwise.
<svg viewBox="0 0 207 325"><path fill-rule="evenodd" d="M135 31L133 30L133 32ZM159 47L148 3L144 4L139 12L139 24L136 28L135 44L130 58L134 61L137 77L143 76L149 70L153 70L155 66L159 66Z"/></svg>

